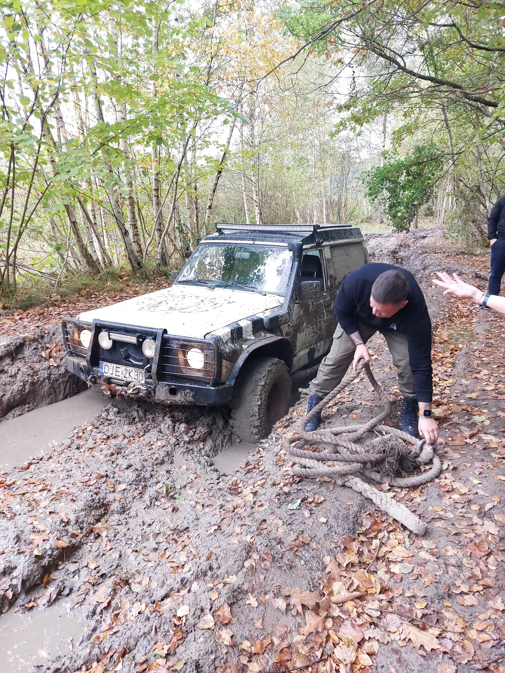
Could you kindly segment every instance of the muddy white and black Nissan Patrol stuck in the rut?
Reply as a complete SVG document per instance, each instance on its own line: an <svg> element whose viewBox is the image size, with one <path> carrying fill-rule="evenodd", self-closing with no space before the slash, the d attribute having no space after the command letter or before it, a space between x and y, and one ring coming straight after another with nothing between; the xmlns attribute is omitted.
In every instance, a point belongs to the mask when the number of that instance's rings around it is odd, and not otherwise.
<svg viewBox="0 0 505 673"><path fill-rule="evenodd" d="M337 289L366 262L351 225L218 224L172 287L65 318L67 369L106 394L230 405L257 441L290 405L290 374L329 351Z"/></svg>

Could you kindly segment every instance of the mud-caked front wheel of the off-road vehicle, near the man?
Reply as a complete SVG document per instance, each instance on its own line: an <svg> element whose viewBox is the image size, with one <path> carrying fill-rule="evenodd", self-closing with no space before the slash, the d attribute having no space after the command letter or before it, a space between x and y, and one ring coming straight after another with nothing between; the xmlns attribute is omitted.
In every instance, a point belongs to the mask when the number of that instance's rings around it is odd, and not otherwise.
<svg viewBox="0 0 505 673"><path fill-rule="evenodd" d="M267 437L288 411L291 379L277 357L255 357L240 370L232 399L232 427L240 441L253 444Z"/></svg>

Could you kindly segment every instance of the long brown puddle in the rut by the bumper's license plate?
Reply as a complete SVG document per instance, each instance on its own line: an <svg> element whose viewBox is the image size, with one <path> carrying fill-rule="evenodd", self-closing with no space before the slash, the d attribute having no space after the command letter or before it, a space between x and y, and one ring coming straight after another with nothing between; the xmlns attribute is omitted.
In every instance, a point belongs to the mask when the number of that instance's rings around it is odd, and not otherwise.
<svg viewBox="0 0 505 673"><path fill-rule="evenodd" d="M105 404L127 404L123 400L96 397L91 390L79 392L55 404L40 406L9 421L0 423L0 468L22 465L29 458L50 451L69 431L91 421Z"/></svg>

